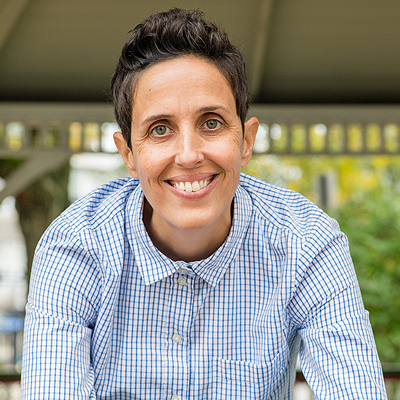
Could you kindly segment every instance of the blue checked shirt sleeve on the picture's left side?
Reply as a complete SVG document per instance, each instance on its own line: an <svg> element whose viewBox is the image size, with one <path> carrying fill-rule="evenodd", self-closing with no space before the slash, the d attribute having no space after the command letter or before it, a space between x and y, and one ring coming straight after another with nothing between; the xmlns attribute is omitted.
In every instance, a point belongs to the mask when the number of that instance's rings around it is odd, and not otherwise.
<svg viewBox="0 0 400 400"><path fill-rule="evenodd" d="M99 274L64 221L35 253L26 306L22 399L95 399L90 349Z"/></svg>

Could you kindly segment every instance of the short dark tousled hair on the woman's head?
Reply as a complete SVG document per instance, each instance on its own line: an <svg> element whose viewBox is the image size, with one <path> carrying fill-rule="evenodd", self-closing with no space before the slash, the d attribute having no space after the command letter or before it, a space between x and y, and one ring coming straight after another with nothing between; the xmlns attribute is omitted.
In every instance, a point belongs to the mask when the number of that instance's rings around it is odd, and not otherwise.
<svg viewBox="0 0 400 400"><path fill-rule="evenodd" d="M246 66L241 52L216 24L198 10L173 8L152 14L132 31L111 79L116 121L131 147L132 99L140 72L150 65L186 55L215 65L228 80L236 113L244 125L250 105Z"/></svg>

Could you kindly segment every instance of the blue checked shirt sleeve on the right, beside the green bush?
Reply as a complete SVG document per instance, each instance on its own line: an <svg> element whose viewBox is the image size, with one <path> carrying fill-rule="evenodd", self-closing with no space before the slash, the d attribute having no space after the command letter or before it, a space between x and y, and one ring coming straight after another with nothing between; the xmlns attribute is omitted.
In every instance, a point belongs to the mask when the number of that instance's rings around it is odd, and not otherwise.
<svg viewBox="0 0 400 400"><path fill-rule="evenodd" d="M293 301L301 319L304 376L315 399L386 399L347 238L337 233L316 255L314 245L305 245L302 261L308 266Z"/></svg>

